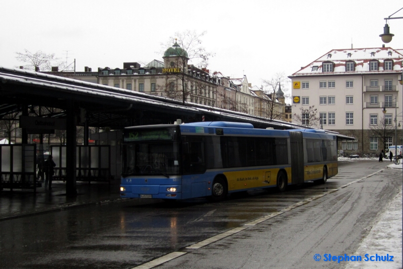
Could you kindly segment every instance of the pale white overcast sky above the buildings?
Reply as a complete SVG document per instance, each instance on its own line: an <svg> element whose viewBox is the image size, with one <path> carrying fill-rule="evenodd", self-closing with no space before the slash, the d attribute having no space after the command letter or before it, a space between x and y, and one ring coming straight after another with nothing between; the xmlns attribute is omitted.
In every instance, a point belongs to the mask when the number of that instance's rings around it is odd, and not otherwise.
<svg viewBox="0 0 403 269"><path fill-rule="evenodd" d="M261 85L290 76L331 49L381 47L384 18L401 0L339 1L2 1L0 65L22 65L15 52L55 53L76 71L123 68L123 62L162 60L161 43L177 31L207 31L215 53L210 71L247 76ZM403 17L403 10L392 17ZM403 19L389 21L387 44L403 49Z"/></svg>

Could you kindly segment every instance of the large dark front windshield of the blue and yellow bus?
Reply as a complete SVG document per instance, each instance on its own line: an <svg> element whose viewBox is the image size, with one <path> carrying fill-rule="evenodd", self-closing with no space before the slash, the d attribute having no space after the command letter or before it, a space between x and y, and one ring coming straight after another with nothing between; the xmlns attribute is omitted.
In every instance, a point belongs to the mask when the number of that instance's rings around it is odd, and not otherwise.
<svg viewBox="0 0 403 269"><path fill-rule="evenodd" d="M122 145L122 176L179 174L176 142L140 142Z"/></svg>

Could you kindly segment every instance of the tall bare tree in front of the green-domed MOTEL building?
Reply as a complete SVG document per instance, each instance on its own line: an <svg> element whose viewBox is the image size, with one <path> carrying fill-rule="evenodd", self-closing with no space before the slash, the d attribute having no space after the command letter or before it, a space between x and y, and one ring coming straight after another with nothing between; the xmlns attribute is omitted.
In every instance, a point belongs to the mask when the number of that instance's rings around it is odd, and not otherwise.
<svg viewBox="0 0 403 269"><path fill-rule="evenodd" d="M170 49L171 55L177 58L176 61L170 61L170 66L165 67L179 69L180 71L172 73L172 75L181 82L183 104L190 93L190 89L187 87L190 78L187 75L188 61L192 61L193 65L198 68L207 68L209 58L214 56L214 53L206 51L206 48L201 45L201 38L206 33L205 31L199 34L189 30L176 32L174 37L169 38L168 43L161 44L163 48ZM174 45L172 46L173 42Z"/></svg>

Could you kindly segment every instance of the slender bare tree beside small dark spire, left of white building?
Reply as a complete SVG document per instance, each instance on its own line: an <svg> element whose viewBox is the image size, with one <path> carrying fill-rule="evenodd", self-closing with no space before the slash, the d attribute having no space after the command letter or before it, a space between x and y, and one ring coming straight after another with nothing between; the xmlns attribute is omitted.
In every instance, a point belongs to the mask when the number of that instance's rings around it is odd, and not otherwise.
<svg viewBox="0 0 403 269"><path fill-rule="evenodd" d="M264 93L268 96L268 98L261 98L261 102L263 104L263 107L267 109L267 118L271 120L283 118L282 106L285 104L279 102L278 97L280 89L283 92L282 97L284 97L285 87L286 85L288 85L288 83L289 79L284 74L284 72L275 74L269 80L263 80Z"/></svg>

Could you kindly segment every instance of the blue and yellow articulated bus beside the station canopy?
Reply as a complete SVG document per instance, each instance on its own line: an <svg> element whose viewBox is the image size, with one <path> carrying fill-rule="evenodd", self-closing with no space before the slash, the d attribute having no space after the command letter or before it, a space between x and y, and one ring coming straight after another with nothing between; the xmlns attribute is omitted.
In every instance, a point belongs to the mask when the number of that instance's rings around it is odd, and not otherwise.
<svg viewBox="0 0 403 269"><path fill-rule="evenodd" d="M336 137L323 130L178 120L124 129L120 195L222 200L237 191L325 183L337 173Z"/></svg>

